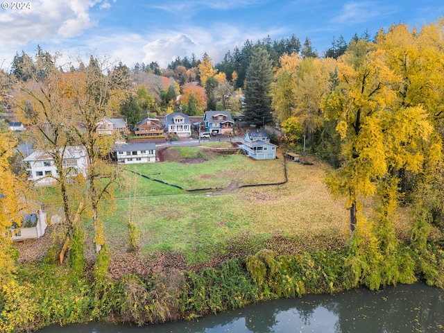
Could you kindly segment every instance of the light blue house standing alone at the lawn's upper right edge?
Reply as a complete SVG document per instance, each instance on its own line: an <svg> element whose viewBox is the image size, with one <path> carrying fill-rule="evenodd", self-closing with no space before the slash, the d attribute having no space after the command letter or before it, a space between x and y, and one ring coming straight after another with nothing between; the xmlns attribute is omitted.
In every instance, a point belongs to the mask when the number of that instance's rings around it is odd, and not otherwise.
<svg viewBox="0 0 444 333"><path fill-rule="evenodd" d="M272 160L276 158L276 145L270 143L270 137L266 131L248 132L244 142L239 146L246 155L255 160Z"/></svg>

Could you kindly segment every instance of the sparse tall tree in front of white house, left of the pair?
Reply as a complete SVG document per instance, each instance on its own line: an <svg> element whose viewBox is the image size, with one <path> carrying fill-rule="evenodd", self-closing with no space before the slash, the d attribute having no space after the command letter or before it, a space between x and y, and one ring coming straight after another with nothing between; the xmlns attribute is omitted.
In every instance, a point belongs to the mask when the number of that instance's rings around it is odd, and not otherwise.
<svg viewBox="0 0 444 333"><path fill-rule="evenodd" d="M46 60L45 60L46 59ZM15 85L18 95L15 96L17 111L24 123L31 125L33 145L52 157L57 176L51 175L60 191L61 205L65 221L63 223L68 237L72 237L74 212L73 200L76 190L69 185L73 170L64 164L67 147L73 144L71 126L71 87L67 81L78 79L78 72L61 73L58 69L45 64L51 57L41 58L37 65L24 67L28 72L26 82L19 80ZM42 76L44 73L44 76ZM78 192L80 193L80 192Z"/></svg>

